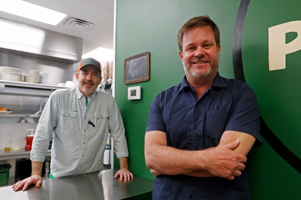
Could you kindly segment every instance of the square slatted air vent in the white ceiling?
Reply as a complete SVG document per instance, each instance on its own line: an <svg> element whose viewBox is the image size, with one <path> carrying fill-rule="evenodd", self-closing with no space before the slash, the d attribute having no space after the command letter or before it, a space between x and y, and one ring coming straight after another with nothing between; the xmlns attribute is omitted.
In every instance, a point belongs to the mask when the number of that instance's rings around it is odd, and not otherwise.
<svg viewBox="0 0 301 200"><path fill-rule="evenodd" d="M97 27L96 24L74 17L67 18L65 21L60 23L60 26L79 32L89 32Z"/></svg>

